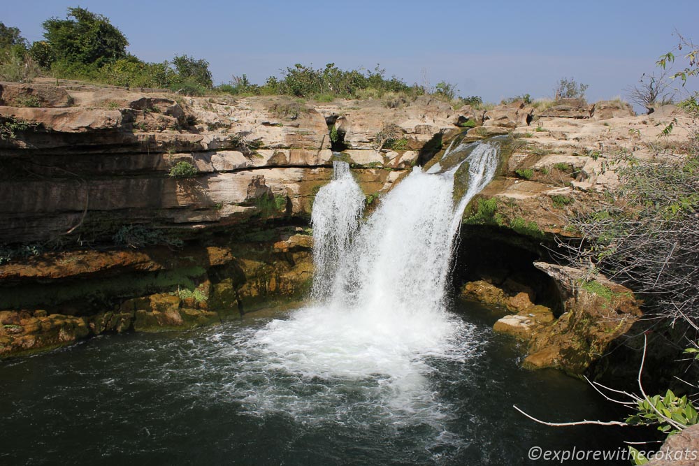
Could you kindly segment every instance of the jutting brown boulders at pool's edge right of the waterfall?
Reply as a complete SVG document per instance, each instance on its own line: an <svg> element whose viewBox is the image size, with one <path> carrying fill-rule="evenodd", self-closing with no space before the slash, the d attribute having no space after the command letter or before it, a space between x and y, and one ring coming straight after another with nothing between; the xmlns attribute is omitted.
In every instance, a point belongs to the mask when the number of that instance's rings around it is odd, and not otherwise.
<svg viewBox="0 0 699 466"><path fill-rule="evenodd" d="M531 291L515 294L512 289L507 292L479 281L467 283L461 294L515 313L499 319L493 330L526 342L524 367L555 367L582 374L640 318L639 305L629 289L601 275L589 279L575 268L543 262L534 265L556 284L563 302L557 318L549 307L533 304Z"/></svg>

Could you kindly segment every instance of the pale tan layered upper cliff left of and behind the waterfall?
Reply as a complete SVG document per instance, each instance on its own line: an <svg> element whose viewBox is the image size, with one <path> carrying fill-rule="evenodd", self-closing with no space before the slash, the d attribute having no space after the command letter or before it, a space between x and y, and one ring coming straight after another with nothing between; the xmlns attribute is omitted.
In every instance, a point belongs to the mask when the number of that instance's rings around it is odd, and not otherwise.
<svg viewBox="0 0 699 466"><path fill-rule="evenodd" d="M69 231L108 241L131 224L198 231L307 220L331 180L329 115L348 146L339 158L352 163L367 195L390 189L427 143L458 132L463 117L434 99L400 109L381 101L316 107L281 96L191 98L48 82L0 92L0 118L24 124L0 140L0 243ZM20 105L21 96L38 106ZM401 134L379 147L386 125ZM195 174L168 176L178 163Z"/></svg>

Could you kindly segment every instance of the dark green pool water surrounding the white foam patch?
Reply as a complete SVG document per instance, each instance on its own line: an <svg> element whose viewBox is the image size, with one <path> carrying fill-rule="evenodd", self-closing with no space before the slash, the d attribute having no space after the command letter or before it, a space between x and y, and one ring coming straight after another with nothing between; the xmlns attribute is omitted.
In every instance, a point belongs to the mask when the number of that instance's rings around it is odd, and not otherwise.
<svg viewBox="0 0 699 466"><path fill-rule="evenodd" d="M289 365L259 335L293 312L186 333L105 335L2 361L0 463L545 464L527 459L532 446L615 450L628 438L618 428L549 428L515 412L513 404L552 421L621 416L577 379L521 370L521 351L492 333L489 310L457 301L450 314L463 341L449 357L413 361L419 373L400 383Z"/></svg>

